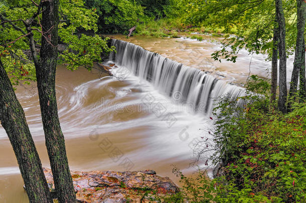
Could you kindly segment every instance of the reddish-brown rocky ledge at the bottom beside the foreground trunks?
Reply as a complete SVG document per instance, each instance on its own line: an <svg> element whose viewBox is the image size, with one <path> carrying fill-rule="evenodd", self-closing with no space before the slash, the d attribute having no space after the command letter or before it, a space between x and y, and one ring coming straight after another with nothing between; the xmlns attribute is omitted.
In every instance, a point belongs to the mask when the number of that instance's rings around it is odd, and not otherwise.
<svg viewBox="0 0 306 203"><path fill-rule="evenodd" d="M51 192L55 195L51 169L44 168ZM135 172L71 171L79 202L163 202L165 196L179 192L169 178L156 175L154 170Z"/></svg>

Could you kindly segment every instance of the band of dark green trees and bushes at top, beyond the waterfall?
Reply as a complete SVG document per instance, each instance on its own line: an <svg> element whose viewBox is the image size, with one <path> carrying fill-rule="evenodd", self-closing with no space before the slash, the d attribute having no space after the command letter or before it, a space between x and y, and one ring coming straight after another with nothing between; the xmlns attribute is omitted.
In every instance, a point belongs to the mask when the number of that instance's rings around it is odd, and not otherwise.
<svg viewBox="0 0 306 203"><path fill-rule="evenodd" d="M143 27L142 24L164 18L174 21L180 18L182 9L179 2L180 0L86 0L86 5L96 9L100 32L126 34L133 26Z"/></svg>

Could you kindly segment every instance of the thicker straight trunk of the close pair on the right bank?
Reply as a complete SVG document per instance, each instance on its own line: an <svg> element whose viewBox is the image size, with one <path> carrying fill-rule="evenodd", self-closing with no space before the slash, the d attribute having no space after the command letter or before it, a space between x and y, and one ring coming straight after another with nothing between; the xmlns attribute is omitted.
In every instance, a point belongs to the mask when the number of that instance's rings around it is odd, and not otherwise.
<svg viewBox="0 0 306 203"><path fill-rule="evenodd" d="M287 81L286 81L286 25L285 17L282 8L282 1L275 0L275 11L276 19L278 23L279 32L279 43L278 43L278 53L279 53L279 99L278 99L278 109L285 113L286 112L286 100L287 100Z"/></svg>

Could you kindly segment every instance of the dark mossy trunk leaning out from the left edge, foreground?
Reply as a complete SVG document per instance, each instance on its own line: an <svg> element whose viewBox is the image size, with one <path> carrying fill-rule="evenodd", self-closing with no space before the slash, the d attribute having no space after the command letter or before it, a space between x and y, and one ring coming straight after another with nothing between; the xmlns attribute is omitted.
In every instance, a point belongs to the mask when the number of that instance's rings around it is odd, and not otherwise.
<svg viewBox="0 0 306 203"><path fill-rule="evenodd" d="M53 202L25 112L1 60L0 121L13 146L30 202Z"/></svg>

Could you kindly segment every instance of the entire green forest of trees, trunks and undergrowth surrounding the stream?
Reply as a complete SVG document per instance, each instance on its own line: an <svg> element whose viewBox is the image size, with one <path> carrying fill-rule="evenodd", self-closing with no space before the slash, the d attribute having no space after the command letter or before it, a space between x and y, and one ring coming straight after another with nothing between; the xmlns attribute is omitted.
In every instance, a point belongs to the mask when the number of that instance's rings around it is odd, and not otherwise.
<svg viewBox="0 0 306 203"><path fill-rule="evenodd" d="M54 197L15 90L37 84L56 198L77 202L58 116L56 69L64 64L91 71L103 63L116 50L103 34L198 41L210 35L222 39L221 49L211 53L220 63L235 63L245 49L266 55L271 64L270 78L249 75L242 97L215 98L213 126L206 129L213 143L203 139L195 153L200 161L213 151L218 175L211 179L207 168L199 168L196 177L188 177L174 168L182 188L159 202L305 202L305 22L304 0L0 1L0 121L30 202Z"/></svg>

